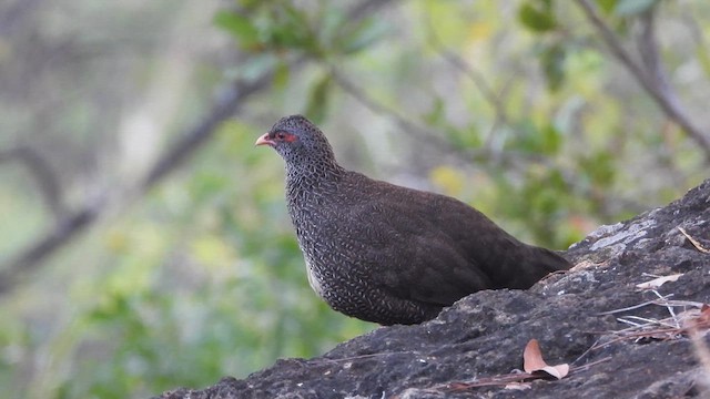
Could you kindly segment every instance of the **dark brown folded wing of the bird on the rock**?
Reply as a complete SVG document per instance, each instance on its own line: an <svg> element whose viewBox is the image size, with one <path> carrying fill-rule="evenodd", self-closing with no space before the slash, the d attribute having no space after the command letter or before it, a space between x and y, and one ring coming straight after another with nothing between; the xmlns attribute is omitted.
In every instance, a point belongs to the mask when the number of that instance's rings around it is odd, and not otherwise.
<svg viewBox="0 0 710 399"><path fill-rule="evenodd" d="M484 264L491 239L503 241L498 249L506 250L505 232L454 198L367 182L353 185L357 194L346 188L348 200L332 213L333 225L341 226L334 234L355 250L351 264L378 274L373 280L383 289L427 304L447 306L495 288Z"/></svg>

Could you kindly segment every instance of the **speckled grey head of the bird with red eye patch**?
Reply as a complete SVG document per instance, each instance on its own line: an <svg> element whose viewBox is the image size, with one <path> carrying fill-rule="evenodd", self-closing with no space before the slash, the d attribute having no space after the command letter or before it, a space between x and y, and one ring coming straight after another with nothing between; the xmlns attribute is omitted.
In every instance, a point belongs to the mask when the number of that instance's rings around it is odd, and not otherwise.
<svg viewBox="0 0 710 399"><path fill-rule="evenodd" d="M302 115L291 115L278 120L268 133L256 140L254 145L268 145L290 166L303 164L333 163L333 149L321 130Z"/></svg>

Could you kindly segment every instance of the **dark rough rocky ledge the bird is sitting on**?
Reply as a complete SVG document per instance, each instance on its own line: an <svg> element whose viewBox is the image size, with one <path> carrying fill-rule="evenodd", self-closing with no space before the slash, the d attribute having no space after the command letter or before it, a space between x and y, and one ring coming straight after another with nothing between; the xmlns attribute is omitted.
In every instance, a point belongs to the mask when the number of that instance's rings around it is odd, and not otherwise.
<svg viewBox="0 0 710 399"><path fill-rule="evenodd" d="M156 398L707 398L708 249L710 180L598 228L567 252L571 270L529 290L476 293L418 326ZM521 371L531 339L569 374Z"/></svg>

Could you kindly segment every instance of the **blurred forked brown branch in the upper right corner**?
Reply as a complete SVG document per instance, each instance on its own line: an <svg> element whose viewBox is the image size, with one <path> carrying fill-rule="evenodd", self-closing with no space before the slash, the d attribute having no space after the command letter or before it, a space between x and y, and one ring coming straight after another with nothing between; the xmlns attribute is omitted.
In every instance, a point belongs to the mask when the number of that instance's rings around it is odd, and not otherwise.
<svg viewBox="0 0 710 399"><path fill-rule="evenodd" d="M641 40L643 41L642 50L648 51L649 47L653 48L651 54L643 55L645 61L649 64L645 70L638 64L631 55L623 49L619 42L618 37L613 33L611 28L599 17L596 8L589 2L589 0L576 0L577 4L582 9L587 19L594 24L602 40L611 53L621 62L623 66L631 73L637 82L646 90L648 94L656 101L660 109L666 113L666 116L676 122L686 133L692 139L703 151L706 162L710 163L710 137L706 136L702 131L689 119L684 110L680 106L677 95L672 92L670 86L663 88L665 81L668 81L666 73L662 69L660 58L658 57L658 47L656 42L656 33L653 30L653 13L648 12L647 16L641 18L643 24L643 33ZM659 74L662 76L659 79Z"/></svg>

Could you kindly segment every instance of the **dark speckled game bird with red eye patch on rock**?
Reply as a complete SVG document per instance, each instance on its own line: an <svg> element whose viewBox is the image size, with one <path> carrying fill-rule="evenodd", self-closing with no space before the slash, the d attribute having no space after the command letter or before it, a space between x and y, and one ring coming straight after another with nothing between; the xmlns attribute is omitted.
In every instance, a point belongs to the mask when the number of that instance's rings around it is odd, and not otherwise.
<svg viewBox="0 0 710 399"><path fill-rule="evenodd" d="M303 115L280 119L255 145L285 161L286 207L308 283L347 316L420 324L469 294L527 289L571 267L462 201L342 167Z"/></svg>

